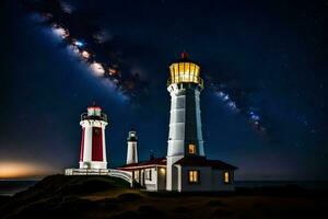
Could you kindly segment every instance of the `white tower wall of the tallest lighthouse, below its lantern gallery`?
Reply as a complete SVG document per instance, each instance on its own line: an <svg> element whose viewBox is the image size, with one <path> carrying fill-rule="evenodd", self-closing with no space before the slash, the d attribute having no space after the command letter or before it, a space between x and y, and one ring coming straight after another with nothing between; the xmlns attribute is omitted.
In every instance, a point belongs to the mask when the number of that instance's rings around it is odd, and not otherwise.
<svg viewBox="0 0 328 219"><path fill-rule="evenodd" d="M167 141L166 189L178 191L181 178L175 164L187 153L188 145L196 145L196 154L204 155L201 131L199 95L197 84L171 84L169 130Z"/></svg>

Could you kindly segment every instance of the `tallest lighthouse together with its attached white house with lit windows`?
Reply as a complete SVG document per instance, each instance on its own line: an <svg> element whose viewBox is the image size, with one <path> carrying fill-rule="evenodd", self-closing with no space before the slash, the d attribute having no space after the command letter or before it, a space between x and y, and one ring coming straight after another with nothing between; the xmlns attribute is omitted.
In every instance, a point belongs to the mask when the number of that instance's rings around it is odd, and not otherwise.
<svg viewBox="0 0 328 219"><path fill-rule="evenodd" d="M183 53L181 59L169 66L169 71L166 159L129 163L119 170L132 172L133 180L149 191L233 191L237 168L219 160L208 160L204 153L199 103L203 80L199 77L199 65Z"/></svg>

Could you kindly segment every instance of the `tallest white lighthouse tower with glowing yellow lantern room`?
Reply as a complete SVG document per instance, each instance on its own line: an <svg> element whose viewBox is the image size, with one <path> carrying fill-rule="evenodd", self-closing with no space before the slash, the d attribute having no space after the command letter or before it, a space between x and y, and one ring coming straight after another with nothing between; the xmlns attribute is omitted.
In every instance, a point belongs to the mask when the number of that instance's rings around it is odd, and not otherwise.
<svg viewBox="0 0 328 219"><path fill-rule="evenodd" d="M199 95L203 80L199 77L199 65L191 61L187 53L169 66L167 91L171 95L169 132L167 141L166 189L177 191L177 168L174 165L185 157L204 157L201 131Z"/></svg>

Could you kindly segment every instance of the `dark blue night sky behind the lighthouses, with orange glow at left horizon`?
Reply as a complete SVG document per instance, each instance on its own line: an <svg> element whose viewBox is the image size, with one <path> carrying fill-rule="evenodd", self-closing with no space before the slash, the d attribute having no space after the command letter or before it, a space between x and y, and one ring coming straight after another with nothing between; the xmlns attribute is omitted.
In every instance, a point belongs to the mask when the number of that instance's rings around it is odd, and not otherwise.
<svg viewBox="0 0 328 219"><path fill-rule="evenodd" d="M58 2L69 19L51 23L1 2L1 171L78 166L80 114L94 101L109 117L109 166L125 163L130 128L140 160L166 155L168 66L185 50L206 81L208 158L238 166L236 180L328 180L328 1ZM54 33L58 19L117 74L95 73Z"/></svg>

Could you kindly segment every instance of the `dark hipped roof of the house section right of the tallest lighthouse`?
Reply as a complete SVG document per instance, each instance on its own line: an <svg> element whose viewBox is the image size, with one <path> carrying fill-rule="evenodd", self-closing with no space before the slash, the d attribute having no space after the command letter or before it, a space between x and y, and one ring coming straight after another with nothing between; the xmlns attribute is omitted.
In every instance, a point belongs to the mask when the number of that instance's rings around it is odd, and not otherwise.
<svg viewBox="0 0 328 219"><path fill-rule="evenodd" d="M181 166L211 166L218 170L237 170L238 168L219 160L208 160L206 157L185 157L175 164Z"/></svg>

